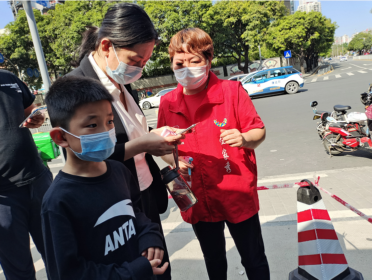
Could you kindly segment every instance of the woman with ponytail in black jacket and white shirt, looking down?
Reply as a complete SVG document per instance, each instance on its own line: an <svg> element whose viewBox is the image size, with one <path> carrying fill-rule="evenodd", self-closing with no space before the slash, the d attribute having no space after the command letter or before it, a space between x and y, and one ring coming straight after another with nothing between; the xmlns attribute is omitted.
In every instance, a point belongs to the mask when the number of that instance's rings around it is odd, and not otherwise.
<svg viewBox="0 0 372 280"><path fill-rule="evenodd" d="M132 172L141 189L143 211L159 224L163 234L159 213L166 211L168 195L151 155L171 154L173 143L183 137L162 137L163 129L149 128L130 86L141 77L157 40L158 34L143 9L130 3L116 4L107 11L100 28L88 27L83 34L79 59L73 63L77 68L68 75L100 80L113 95L117 143L109 159L123 162ZM163 245L161 266L169 262L165 239ZM171 279L170 265L157 277Z"/></svg>

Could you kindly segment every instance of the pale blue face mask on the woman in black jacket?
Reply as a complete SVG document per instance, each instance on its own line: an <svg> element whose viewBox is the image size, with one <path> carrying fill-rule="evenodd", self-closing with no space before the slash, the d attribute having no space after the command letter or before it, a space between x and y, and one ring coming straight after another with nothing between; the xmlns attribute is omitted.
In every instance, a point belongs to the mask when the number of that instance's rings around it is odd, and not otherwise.
<svg viewBox="0 0 372 280"><path fill-rule="evenodd" d="M114 49L116 58L119 61L119 65L116 70L111 70L109 64L107 63L106 57L106 73L109 75L115 82L122 85L127 85L137 81L142 76L142 69L141 67L131 66L125 64L124 62L120 61L118 55L116 54L114 45L112 46Z"/></svg>

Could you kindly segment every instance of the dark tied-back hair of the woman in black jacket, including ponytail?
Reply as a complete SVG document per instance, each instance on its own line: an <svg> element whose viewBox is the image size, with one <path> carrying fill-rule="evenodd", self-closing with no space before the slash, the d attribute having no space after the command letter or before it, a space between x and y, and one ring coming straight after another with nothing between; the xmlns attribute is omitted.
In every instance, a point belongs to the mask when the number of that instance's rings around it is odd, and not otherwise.
<svg viewBox="0 0 372 280"><path fill-rule="evenodd" d="M158 42L158 33L146 12L138 5L132 3L118 3L110 7L100 28L86 26L83 33L82 44L78 48L79 58L71 63L78 67L80 62L93 51L97 51L103 38L107 38L118 48L132 48L155 40Z"/></svg>

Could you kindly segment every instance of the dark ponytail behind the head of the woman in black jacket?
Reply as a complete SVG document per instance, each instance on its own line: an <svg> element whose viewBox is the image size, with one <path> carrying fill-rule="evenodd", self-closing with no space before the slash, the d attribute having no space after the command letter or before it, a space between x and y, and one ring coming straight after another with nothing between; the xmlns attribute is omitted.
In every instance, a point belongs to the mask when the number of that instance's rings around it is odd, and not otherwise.
<svg viewBox="0 0 372 280"><path fill-rule="evenodd" d="M86 31L83 32L83 39L82 44L80 47L75 51L73 61L71 65L73 67L79 67L80 62L83 60L86 54L90 54L96 50L96 44L98 41L98 33L100 29L96 26L85 26L87 28ZM79 56L76 59L76 56Z"/></svg>

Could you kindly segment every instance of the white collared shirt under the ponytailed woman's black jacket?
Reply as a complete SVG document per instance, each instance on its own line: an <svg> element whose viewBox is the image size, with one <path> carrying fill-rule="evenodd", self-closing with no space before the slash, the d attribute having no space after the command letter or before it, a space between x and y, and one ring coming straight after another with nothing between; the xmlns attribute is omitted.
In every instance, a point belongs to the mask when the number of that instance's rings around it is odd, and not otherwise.
<svg viewBox="0 0 372 280"><path fill-rule="evenodd" d="M101 83L114 97L114 102L112 104L114 105L115 110L118 112L120 120L122 121L125 131L127 132L128 139L133 140L149 133L149 126L146 118L142 114L140 108L138 108L136 101L129 94L127 89L123 85L120 85L125 96L125 102L127 103L128 111L125 110L123 103L120 101L120 90L110 81L106 74L97 65L93 58L94 53L95 52L92 52L89 55L89 61L92 64L94 71L96 71ZM153 178L145 158L145 153L135 155L133 158L134 163L136 164L140 190L143 191L151 185Z"/></svg>

